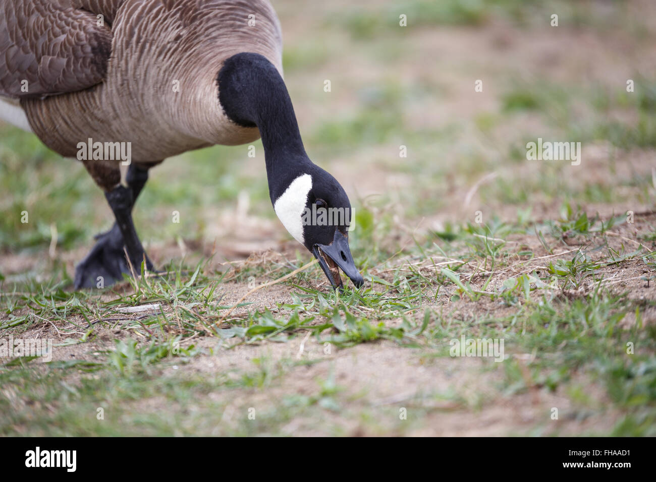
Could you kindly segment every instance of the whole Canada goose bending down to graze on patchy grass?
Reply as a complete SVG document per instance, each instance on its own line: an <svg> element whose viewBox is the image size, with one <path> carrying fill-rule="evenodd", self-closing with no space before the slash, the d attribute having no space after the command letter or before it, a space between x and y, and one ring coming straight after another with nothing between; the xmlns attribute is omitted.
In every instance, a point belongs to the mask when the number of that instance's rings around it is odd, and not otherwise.
<svg viewBox="0 0 656 482"><path fill-rule="evenodd" d="M46 146L80 159L115 216L76 266L76 288L94 287L100 276L105 285L122 279L129 272L123 247L136 269L142 260L153 269L131 215L151 167L184 151L260 136L282 224L318 258L333 287L342 286L338 268L356 287L363 284L348 246L350 202L303 147L268 1L0 5L0 95L14 99L0 117L29 125ZM346 216L317 222L307 215L324 209Z"/></svg>

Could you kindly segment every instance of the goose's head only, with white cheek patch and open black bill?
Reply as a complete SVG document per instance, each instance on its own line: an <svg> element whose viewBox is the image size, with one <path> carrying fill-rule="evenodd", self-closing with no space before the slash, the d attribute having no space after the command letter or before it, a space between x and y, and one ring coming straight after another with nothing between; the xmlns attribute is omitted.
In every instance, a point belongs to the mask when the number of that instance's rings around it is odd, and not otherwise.
<svg viewBox="0 0 656 482"><path fill-rule="evenodd" d="M343 287L339 270L356 287L364 283L348 246L352 220L351 203L344 188L328 172L314 164L298 174L272 199L283 226L314 254L333 288Z"/></svg>

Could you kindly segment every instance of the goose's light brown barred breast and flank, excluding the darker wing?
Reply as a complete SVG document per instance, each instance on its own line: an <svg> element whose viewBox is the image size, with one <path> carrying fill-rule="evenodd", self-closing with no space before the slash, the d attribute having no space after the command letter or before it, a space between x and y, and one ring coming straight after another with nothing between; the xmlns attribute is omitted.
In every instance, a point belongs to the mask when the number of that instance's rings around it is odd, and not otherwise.
<svg viewBox="0 0 656 482"><path fill-rule="evenodd" d="M79 142L88 138L131 142L132 159L149 162L258 138L258 129L228 120L216 76L224 60L239 52L262 54L282 71L280 27L268 1L73 0L59 5L89 10L94 18L106 16L111 54L100 82L91 79L87 88L55 90L47 93L57 95L45 98L21 98L33 131L49 148L75 157ZM79 29L79 22L74 25ZM44 42L29 35L22 41L27 45L16 47L24 50ZM45 43L54 41L46 35Z"/></svg>

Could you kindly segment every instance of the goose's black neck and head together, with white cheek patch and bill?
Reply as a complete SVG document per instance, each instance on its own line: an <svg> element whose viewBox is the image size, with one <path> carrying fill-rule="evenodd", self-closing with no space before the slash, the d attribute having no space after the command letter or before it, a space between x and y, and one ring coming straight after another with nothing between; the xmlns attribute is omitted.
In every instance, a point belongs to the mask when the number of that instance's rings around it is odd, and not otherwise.
<svg viewBox="0 0 656 482"><path fill-rule="evenodd" d="M343 287L339 270L356 287L363 285L348 245L348 196L331 174L310 161L279 71L264 56L242 52L224 61L217 80L226 117L260 131L269 194L283 226L314 254L333 288Z"/></svg>

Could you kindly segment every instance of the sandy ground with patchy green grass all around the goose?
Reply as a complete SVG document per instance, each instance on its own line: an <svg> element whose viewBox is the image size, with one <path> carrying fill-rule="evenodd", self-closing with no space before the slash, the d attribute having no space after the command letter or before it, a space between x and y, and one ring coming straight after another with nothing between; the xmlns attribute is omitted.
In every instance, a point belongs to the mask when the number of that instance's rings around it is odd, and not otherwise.
<svg viewBox="0 0 656 482"><path fill-rule="evenodd" d="M152 171L135 216L163 277L75 292L110 210L0 125L0 338L54 345L0 365L0 433L656 435L656 5L273 3L365 287L287 277L312 256L256 142ZM538 138L580 164L528 160ZM462 336L502 361L452 356Z"/></svg>

